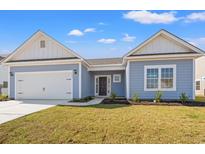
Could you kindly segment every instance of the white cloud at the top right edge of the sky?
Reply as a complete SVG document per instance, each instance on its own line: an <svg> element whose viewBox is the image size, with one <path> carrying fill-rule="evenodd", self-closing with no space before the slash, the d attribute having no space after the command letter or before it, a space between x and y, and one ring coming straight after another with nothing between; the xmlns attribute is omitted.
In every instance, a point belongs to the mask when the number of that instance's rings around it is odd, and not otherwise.
<svg viewBox="0 0 205 154"><path fill-rule="evenodd" d="M194 12L185 17L185 22L205 21L205 12Z"/></svg>

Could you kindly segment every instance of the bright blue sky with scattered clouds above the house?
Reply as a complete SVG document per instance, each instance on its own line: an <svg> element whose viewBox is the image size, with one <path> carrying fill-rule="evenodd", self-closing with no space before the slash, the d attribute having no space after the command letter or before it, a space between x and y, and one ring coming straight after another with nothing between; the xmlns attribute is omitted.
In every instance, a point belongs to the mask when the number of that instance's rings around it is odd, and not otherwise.
<svg viewBox="0 0 205 154"><path fill-rule="evenodd" d="M84 58L120 57L160 29L205 49L203 11L0 11L0 54L38 29Z"/></svg>

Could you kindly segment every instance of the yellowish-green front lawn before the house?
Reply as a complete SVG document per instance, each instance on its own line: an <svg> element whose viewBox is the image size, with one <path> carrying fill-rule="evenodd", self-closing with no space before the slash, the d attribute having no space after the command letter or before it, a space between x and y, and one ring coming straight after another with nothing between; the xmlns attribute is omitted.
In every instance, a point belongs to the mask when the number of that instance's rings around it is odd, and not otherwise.
<svg viewBox="0 0 205 154"><path fill-rule="evenodd" d="M205 107L57 106L0 125L0 143L205 143Z"/></svg>

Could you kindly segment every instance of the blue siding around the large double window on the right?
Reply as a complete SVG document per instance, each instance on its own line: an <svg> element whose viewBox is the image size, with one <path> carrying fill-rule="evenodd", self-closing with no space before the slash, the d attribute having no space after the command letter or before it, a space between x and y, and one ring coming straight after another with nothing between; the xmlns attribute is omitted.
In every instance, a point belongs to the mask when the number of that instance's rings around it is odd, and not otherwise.
<svg viewBox="0 0 205 154"><path fill-rule="evenodd" d="M141 61L130 62L130 94L138 93L142 99L153 99L156 92L144 91L144 66L145 65L176 65L176 91L163 91L163 99L179 99L185 92L190 99L193 98L193 60L166 60L166 61Z"/></svg>

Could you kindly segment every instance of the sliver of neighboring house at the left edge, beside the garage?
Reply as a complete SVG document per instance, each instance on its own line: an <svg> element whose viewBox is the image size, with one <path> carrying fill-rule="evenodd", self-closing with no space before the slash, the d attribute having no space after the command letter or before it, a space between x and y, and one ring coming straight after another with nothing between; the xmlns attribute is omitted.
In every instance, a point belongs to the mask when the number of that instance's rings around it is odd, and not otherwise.
<svg viewBox="0 0 205 154"><path fill-rule="evenodd" d="M8 68L1 65L6 55L0 55L0 94L8 94Z"/></svg>

